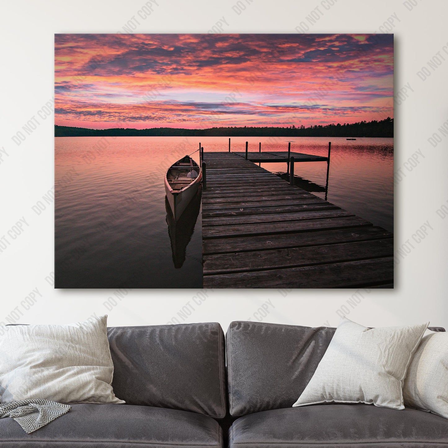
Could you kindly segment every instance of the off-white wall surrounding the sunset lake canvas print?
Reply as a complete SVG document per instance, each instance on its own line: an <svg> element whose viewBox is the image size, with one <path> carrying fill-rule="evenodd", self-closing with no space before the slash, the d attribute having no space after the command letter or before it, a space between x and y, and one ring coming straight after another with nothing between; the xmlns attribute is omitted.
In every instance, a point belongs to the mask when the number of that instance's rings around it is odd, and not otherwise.
<svg viewBox="0 0 448 448"><path fill-rule="evenodd" d="M350 319L369 326L429 319L448 327L448 218L436 213L442 204L448 205L448 137L438 130L448 120L448 54L444 52L444 48L448 52L444 47L448 2L241 0L238 4L246 6L241 12L233 8L235 0L157 0L159 6L154 4L154 12L143 20L137 13L146 1L26 0L2 6L6 11L1 27L0 149L8 155L0 152L0 244L3 235L7 244L0 253L0 321L69 323L108 312L110 325L160 324L173 317L182 321L177 313L186 306L184 311L191 312L186 322L218 321L225 330L232 320L260 319L254 313L270 301L269 314L263 318L267 322L336 325L337 310L345 305ZM409 11L412 4L416 6ZM312 10L320 17L314 25L306 20ZM391 24L396 92L410 86L408 97L395 102L395 239L396 248L405 245L409 254L397 258L394 290L362 290L354 297L356 291L348 289L294 290L286 297L275 289L215 290L207 291L200 305L195 290L133 290L106 310L103 303L114 297L113 290L52 288L45 277L53 271L53 209L48 207L38 216L31 207L53 186L53 117L44 120L37 115L53 97L53 35L115 33L133 16L139 33L204 33L222 17L223 31L229 33L294 33L301 22L312 33L382 32L387 30L385 23ZM440 65L433 70L428 61L437 55ZM425 81L417 75L422 67L431 73ZM17 146L11 137L33 116L36 129ZM436 147L428 142L433 133L442 140ZM405 163L418 150L422 155L412 169ZM22 217L27 225L13 239L8 231ZM429 231L417 242L413 235L425 222ZM28 299L30 306L24 299L36 288L42 297Z"/></svg>

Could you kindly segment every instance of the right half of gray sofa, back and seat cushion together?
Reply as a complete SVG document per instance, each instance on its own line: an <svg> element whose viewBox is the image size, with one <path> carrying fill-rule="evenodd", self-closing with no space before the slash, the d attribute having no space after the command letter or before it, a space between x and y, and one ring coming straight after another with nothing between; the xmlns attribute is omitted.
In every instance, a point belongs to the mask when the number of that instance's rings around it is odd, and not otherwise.
<svg viewBox="0 0 448 448"><path fill-rule="evenodd" d="M444 331L431 327L434 331ZM448 420L417 409L292 408L335 328L232 322L226 336L230 448L447 448Z"/></svg>

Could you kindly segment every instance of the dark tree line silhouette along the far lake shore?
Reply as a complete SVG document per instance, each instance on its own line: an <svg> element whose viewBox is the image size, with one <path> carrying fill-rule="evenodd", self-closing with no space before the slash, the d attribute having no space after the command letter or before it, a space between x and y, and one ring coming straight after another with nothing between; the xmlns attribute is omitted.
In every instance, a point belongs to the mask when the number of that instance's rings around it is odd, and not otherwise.
<svg viewBox="0 0 448 448"><path fill-rule="evenodd" d="M86 129L55 125L55 137L393 137L393 118L305 127L229 126L208 129Z"/></svg>

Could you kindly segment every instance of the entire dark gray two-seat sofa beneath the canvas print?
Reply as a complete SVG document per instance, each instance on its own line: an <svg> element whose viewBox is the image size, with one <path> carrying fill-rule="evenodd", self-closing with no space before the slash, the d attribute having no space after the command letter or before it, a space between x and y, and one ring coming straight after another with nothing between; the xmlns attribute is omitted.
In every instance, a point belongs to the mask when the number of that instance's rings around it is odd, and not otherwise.
<svg viewBox="0 0 448 448"><path fill-rule="evenodd" d="M225 343L218 323L111 327L112 385L127 404L72 405L29 435L3 418L0 447L447 448L448 420L417 409L291 407L333 333L233 322Z"/></svg>

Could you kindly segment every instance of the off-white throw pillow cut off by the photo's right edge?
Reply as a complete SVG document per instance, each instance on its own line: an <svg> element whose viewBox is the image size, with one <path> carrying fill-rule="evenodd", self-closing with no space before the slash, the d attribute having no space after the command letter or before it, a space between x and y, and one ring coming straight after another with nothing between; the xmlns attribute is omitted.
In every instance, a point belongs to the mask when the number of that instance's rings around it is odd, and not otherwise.
<svg viewBox="0 0 448 448"><path fill-rule="evenodd" d="M409 365L405 406L448 418L448 333L427 331Z"/></svg>

